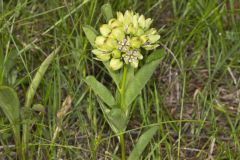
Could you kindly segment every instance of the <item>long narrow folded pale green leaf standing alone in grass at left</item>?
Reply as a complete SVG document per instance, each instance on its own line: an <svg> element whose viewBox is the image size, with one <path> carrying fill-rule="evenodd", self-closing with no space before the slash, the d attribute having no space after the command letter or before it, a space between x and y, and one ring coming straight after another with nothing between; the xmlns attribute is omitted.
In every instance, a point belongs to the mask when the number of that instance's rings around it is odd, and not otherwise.
<svg viewBox="0 0 240 160"><path fill-rule="evenodd" d="M57 52L59 51L59 47L57 49L55 49L44 61L43 63L40 65L37 73L35 74L29 88L26 94L26 100L25 100L25 107L31 107L32 101L33 101L33 97L36 93L36 90L40 84L40 82L42 81L42 78L45 74L45 72L47 71L49 65L52 63L55 55L57 54Z"/></svg>

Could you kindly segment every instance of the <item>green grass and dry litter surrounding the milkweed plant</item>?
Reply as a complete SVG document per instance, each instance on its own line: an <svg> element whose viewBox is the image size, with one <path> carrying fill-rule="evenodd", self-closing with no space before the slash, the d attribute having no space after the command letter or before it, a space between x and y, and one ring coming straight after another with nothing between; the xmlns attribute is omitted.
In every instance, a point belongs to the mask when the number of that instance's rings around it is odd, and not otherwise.
<svg viewBox="0 0 240 160"><path fill-rule="evenodd" d="M153 18L159 48L168 53L134 103L127 150L138 139L144 142L139 136L149 126L158 126L141 159L240 159L238 0L0 0L0 85L14 88L21 106L39 66L60 47L36 90L38 107L19 111L31 118L29 159L120 154L97 97L83 81L95 75L115 87L83 33L84 25L104 23L101 6L107 2L114 11ZM68 95L72 105L60 120ZM11 128L0 110L0 159L16 159Z"/></svg>

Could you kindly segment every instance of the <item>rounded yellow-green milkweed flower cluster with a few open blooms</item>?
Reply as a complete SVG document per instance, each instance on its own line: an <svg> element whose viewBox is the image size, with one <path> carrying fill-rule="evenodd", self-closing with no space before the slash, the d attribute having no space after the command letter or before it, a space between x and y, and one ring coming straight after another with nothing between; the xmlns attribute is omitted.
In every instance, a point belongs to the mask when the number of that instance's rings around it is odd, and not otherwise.
<svg viewBox="0 0 240 160"><path fill-rule="evenodd" d="M158 47L160 36L155 28L150 28L152 19L126 11L117 12L117 18L100 27L100 36L96 37L92 52L100 61L110 61L113 70L120 69L124 63L137 68L143 59L141 48L152 50Z"/></svg>

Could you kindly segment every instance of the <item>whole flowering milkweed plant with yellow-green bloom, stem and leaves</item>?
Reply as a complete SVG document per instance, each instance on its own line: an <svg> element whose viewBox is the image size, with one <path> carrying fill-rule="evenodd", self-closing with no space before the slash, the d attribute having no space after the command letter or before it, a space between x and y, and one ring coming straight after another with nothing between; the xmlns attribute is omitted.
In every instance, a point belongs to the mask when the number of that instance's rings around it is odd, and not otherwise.
<svg viewBox="0 0 240 160"><path fill-rule="evenodd" d="M94 76L88 76L85 82L97 95L104 117L119 136L122 159L125 159L124 131L132 106L165 54L157 49L160 35L152 27L151 18L129 10L117 12L113 17L109 4L102 7L102 13L106 23L100 26L100 33L88 25L83 30L93 47L94 59L103 63L113 79L115 94ZM153 128L151 132L156 131Z"/></svg>

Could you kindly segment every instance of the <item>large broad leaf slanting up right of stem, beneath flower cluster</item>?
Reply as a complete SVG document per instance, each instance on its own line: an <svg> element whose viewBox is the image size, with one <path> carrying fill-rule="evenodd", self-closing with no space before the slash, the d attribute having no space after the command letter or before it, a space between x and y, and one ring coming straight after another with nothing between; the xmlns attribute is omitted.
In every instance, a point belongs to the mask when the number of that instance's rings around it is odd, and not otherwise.
<svg viewBox="0 0 240 160"><path fill-rule="evenodd" d="M129 82L125 92L125 105L129 106L139 95L141 90L146 85L147 81L151 78L154 70L159 65L160 60L155 60L145 64L134 76L132 81Z"/></svg>

